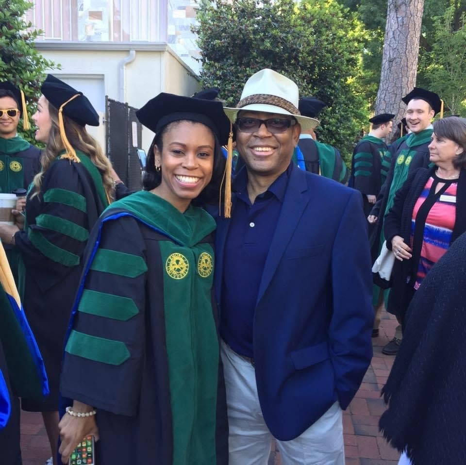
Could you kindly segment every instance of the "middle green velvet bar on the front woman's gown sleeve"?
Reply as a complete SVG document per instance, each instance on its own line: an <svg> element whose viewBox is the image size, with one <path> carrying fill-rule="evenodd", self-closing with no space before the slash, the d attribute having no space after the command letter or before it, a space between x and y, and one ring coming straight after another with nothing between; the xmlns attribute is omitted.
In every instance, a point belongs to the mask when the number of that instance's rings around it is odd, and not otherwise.
<svg viewBox="0 0 466 465"><path fill-rule="evenodd" d="M133 299L84 289L78 310L90 315L126 321L139 313Z"/></svg>

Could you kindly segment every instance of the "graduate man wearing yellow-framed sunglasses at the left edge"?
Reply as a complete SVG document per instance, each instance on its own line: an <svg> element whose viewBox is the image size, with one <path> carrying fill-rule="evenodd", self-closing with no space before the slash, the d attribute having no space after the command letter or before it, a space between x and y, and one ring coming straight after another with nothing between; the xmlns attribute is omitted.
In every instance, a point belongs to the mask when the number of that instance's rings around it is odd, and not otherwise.
<svg viewBox="0 0 466 465"><path fill-rule="evenodd" d="M40 171L40 150L17 134L20 116L27 131L30 126L24 93L8 81L0 83L0 192L4 194L27 189ZM3 247L17 282L19 254L8 244Z"/></svg>

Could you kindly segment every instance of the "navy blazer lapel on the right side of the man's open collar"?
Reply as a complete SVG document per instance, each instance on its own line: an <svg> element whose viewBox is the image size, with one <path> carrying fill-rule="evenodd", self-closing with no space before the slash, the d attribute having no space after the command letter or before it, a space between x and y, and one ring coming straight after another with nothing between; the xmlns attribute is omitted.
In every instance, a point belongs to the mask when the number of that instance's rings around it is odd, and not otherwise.
<svg viewBox="0 0 466 465"><path fill-rule="evenodd" d="M272 280L275 270L283 256L283 252L288 246L291 236L298 226L302 212L309 202L309 196L304 194L307 189L308 186L305 171L301 171L296 166L293 166L290 173L290 179L288 180L288 186L286 187L282 210L280 211L277 227L275 228L275 233L270 244L264 271L262 273L257 303L259 303Z"/></svg>

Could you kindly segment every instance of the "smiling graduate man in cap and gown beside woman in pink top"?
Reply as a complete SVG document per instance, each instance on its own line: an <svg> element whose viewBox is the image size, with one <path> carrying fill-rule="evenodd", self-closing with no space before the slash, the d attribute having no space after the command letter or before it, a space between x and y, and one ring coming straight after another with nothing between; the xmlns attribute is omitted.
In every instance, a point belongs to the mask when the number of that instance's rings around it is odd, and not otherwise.
<svg viewBox="0 0 466 465"><path fill-rule="evenodd" d="M406 121L411 134L399 144L377 202L367 217L369 223L377 223L370 237L373 261L378 257L385 242L383 217L392 207L395 195L406 181L408 175L417 168L427 168L429 166L428 146L431 143L433 133L431 120L437 113L440 113L440 117L443 116L442 100L437 94L429 90L415 87L401 100L407 105ZM387 300L388 292L384 292L377 284L374 284L372 297L376 315L374 329L378 328L380 315ZM390 312L390 309L387 308L387 311ZM382 352L386 355L396 355L401 344L401 338L401 324L399 324L395 330L394 338L383 347Z"/></svg>

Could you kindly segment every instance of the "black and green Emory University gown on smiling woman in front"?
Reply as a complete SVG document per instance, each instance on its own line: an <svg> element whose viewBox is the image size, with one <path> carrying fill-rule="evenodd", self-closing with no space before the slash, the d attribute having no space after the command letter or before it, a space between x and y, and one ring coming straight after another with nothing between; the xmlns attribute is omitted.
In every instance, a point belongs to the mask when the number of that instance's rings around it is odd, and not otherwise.
<svg viewBox="0 0 466 465"><path fill-rule="evenodd" d="M97 463L228 463L214 228L205 211L141 191L92 232L60 388L62 407L97 410Z"/></svg>

